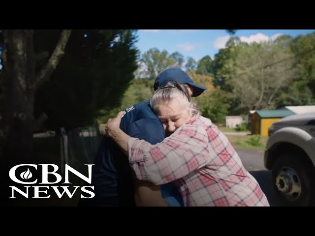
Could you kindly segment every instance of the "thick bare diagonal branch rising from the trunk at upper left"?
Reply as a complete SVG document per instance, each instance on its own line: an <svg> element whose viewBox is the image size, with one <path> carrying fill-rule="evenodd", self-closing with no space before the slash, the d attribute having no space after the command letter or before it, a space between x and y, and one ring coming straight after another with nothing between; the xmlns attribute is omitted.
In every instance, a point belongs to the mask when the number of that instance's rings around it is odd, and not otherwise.
<svg viewBox="0 0 315 236"><path fill-rule="evenodd" d="M63 29L60 35L59 42L53 54L51 55L49 61L47 62L46 66L44 66L44 68L41 69L36 76L36 81L34 84L35 87L38 87L40 84L45 82L56 69L60 59L62 58L64 54L64 48L68 42L70 33L71 33L71 29Z"/></svg>

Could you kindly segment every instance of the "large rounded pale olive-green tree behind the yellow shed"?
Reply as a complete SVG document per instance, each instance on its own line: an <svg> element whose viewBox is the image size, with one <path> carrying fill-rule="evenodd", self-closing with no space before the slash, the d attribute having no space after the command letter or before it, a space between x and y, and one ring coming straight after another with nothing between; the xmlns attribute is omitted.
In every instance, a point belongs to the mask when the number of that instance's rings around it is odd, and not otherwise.
<svg viewBox="0 0 315 236"><path fill-rule="evenodd" d="M279 42L239 45L235 59L224 64L225 83L238 101L235 110L259 110L275 107L275 98L294 78L294 55Z"/></svg>

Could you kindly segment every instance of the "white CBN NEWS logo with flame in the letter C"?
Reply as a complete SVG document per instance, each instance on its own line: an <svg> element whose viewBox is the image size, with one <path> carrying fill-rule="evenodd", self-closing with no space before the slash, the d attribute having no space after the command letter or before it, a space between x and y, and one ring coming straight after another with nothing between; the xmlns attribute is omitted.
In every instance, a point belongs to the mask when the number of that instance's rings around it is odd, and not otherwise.
<svg viewBox="0 0 315 236"><path fill-rule="evenodd" d="M60 174L56 173L58 171L58 166L55 164L38 164L42 166L42 181L39 182L38 184L55 184L55 183L59 183L62 181L62 177ZM23 179L20 180L17 178L16 173L18 173L18 169L21 166L28 166L27 171L21 172L20 175L18 174L18 176ZM48 171L48 166L52 166L54 168L54 171L49 172ZM85 180L86 182L90 183L92 182L92 166L94 166L94 164L85 164L85 166L88 166L88 171L89 171L89 177L86 177L84 175L82 175L80 172L78 172L77 170L73 169L72 167L70 167L69 165L65 164L65 170L64 170L64 182L65 184L69 184L71 182L69 182L69 172L71 172L72 174L74 174L77 177L80 177L81 179ZM35 169L37 171L37 165L34 164L20 164L20 165L16 165L14 167L12 167L9 171L9 177L16 183L21 183L21 184L36 184L37 183L37 178L33 181L25 181L28 180L30 178L32 178L33 174L31 172L31 170L29 169L29 167L31 169ZM48 175L54 175L56 177L56 181L54 182L49 182L48 181ZM23 195L26 198L29 198L29 188L33 187L33 193L34 196L32 196L32 198L50 198L51 194L47 196L47 189L49 189L50 187L55 191L55 193L57 194L57 196L59 198L63 197L63 194L66 193L68 195L69 198L72 198L75 191L77 190L77 188L79 188L80 186L73 186L75 189L74 191L71 193L69 191L69 187L70 186L49 186L49 185L35 185L35 186L23 186L24 187L24 191L19 189L16 186L9 186L12 189L11 192L11 197L9 198L16 198L14 193L18 192L21 195ZM61 193L58 189L58 187L63 189L63 192ZM81 194L81 198L94 198L95 197L95 193L87 190L87 188L91 188L94 190L94 186L82 186L81 187L81 191L85 192L89 195L91 195L90 197L84 197ZM41 193L41 196L39 196L39 194ZM42 195L46 195L46 196L42 196Z"/></svg>

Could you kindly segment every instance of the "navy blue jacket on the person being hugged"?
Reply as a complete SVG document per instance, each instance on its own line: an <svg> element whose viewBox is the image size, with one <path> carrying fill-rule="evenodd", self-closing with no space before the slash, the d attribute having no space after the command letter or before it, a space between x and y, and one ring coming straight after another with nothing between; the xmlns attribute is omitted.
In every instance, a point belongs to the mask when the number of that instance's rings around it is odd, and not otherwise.
<svg viewBox="0 0 315 236"><path fill-rule="evenodd" d="M126 109L120 128L129 136L151 144L157 144L165 138L162 123L151 109L149 101ZM81 199L79 206L135 206L134 175L128 158L113 140L105 136L92 168L92 186L95 197Z"/></svg>

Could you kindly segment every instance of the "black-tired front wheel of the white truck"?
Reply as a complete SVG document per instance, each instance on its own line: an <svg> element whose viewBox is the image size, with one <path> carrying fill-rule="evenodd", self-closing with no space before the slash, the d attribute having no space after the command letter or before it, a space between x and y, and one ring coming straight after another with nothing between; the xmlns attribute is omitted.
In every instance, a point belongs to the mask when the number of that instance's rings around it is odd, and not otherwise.
<svg viewBox="0 0 315 236"><path fill-rule="evenodd" d="M314 173L300 154L284 154L272 169L272 186L279 206L310 206L314 194Z"/></svg>

